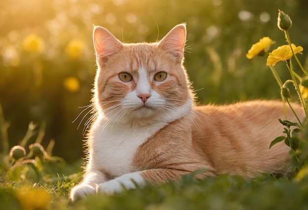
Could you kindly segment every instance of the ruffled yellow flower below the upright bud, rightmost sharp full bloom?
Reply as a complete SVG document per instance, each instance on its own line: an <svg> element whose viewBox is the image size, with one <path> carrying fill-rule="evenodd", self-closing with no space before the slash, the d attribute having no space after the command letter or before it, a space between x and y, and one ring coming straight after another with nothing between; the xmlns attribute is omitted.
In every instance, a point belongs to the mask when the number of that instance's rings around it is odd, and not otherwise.
<svg viewBox="0 0 308 210"><path fill-rule="evenodd" d="M303 48L301 46L296 47L294 44L291 44L294 54L301 53L303 51ZM272 53L269 54L267 58L266 65L273 65L278 61L285 61L289 60L293 56L291 48L289 45L282 45L275 49Z"/></svg>

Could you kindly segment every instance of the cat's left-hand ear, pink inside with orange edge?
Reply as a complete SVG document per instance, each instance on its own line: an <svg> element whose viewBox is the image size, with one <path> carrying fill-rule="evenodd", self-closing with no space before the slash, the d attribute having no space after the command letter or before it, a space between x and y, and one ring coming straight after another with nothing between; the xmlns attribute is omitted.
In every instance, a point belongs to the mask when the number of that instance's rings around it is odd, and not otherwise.
<svg viewBox="0 0 308 210"><path fill-rule="evenodd" d="M99 64L107 62L110 56L119 53L123 48L123 44L112 33L100 26L94 27L93 43Z"/></svg>

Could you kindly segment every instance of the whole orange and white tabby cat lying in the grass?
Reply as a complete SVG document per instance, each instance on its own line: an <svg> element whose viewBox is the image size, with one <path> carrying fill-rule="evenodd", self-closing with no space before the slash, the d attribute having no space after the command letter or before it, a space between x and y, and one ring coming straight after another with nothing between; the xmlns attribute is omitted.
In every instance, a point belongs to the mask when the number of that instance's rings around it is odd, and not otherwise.
<svg viewBox="0 0 308 210"><path fill-rule="evenodd" d="M88 133L84 179L72 188L72 201L146 181L178 180L204 168L197 177L287 172L289 148L279 142L269 149L283 131L282 102L196 105L183 65L185 42L185 24L159 42L137 44L123 44L95 26L96 117ZM293 106L303 117L301 106Z"/></svg>

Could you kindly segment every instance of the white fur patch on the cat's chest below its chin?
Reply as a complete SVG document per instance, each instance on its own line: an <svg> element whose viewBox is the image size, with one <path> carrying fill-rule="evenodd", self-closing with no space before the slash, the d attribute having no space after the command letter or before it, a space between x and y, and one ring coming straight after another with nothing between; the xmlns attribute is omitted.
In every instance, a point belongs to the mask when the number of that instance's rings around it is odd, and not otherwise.
<svg viewBox="0 0 308 210"><path fill-rule="evenodd" d="M108 125L96 121L92 128L90 164L92 169L102 169L112 176L121 176L133 171L131 162L138 147L165 123L154 123L145 127Z"/></svg>

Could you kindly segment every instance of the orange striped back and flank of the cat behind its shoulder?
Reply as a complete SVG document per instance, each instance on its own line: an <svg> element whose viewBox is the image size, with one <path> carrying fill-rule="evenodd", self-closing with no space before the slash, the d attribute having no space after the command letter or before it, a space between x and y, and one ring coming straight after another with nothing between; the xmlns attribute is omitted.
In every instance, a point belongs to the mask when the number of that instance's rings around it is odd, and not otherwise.
<svg viewBox="0 0 308 210"><path fill-rule="evenodd" d="M301 106L292 105L303 119ZM285 119L282 102L249 101L194 106L193 109L196 116L193 144L195 148L202 148L219 173L246 171L253 176L257 171L271 173L273 168L277 173L285 171L277 167L289 159L289 148L279 142L269 149L271 141L283 135L283 126L278 121ZM289 107L287 116L289 121L297 122Z"/></svg>

